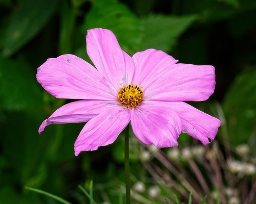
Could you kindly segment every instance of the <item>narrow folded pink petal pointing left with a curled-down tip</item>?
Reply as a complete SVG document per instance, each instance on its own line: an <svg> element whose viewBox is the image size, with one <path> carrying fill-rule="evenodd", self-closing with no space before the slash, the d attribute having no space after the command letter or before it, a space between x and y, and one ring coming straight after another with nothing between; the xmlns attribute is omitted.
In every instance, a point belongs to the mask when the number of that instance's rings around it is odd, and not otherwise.
<svg viewBox="0 0 256 204"><path fill-rule="evenodd" d="M87 122L102 111L118 106L117 101L112 100L78 100L66 104L57 109L48 119L44 120L39 127L39 134L50 124L64 124Z"/></svg>

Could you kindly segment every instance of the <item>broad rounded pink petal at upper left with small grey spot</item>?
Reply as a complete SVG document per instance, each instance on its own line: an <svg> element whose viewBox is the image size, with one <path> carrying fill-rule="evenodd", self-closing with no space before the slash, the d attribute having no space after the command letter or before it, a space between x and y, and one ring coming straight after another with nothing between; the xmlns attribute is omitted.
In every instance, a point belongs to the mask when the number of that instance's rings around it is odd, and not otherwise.
<svg viewBox="0 0 256 204"><path fill-rule="evenodd" d="M88 62L74 55L50 58L37 69L37 81L57 98L115 99L108 82Z"/></svg>

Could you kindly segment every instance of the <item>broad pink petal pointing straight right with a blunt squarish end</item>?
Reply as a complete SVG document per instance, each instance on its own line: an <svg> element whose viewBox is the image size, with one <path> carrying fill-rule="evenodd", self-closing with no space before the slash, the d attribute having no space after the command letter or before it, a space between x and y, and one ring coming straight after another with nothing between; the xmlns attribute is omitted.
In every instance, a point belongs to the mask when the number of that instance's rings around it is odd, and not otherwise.
<svg viewBox="0 0 256 204"><path fill-rule="evenodd" d="M167 101L207 100L215 89L215 68L174 64L147 81L144 99Z"/></svg>

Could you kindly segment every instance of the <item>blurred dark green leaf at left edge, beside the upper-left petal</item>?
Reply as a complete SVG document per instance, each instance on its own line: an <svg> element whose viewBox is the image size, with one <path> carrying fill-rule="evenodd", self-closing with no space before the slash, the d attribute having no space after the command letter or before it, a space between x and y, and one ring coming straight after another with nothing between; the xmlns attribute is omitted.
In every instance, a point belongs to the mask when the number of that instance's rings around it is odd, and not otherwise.
<svg viewBox="0 0 256 204"><path fill-rule="evenodd" d="M29 68L0 58L0 105L6 110L28 110L41 105L41 91Z"/></svg>

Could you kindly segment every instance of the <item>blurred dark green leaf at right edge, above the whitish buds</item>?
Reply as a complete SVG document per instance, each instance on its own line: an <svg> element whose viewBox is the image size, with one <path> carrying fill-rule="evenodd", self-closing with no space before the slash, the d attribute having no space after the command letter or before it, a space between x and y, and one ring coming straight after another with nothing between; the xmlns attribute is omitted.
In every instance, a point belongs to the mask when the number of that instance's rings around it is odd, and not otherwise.
<svg viewBox="0 0 256 204"><path fill-rule="evenodd" d="M223 110L231 144L247 143L253 137L256 127L255 79L255 69L239 74L224 99Z"/></svg>

